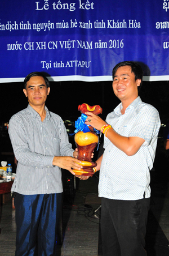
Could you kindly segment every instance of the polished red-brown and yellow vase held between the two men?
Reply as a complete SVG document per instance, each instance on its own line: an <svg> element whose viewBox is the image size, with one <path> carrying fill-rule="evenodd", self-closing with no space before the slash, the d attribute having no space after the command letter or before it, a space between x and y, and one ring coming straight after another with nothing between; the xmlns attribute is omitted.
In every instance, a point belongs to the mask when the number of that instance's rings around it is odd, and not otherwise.
<svg viewBox="0 0 169 256"><path fill-rule="evenodd" d="M90 106L86 103L79 105L78 110L81 111L81 113L83 114L88 111L96 115L102 113L102 108L100 108L99 105ZM94 131L92 126L88 126L88 128L91 131L87 131L87 133L84 133L83 131L78 131L78 133L76 133L74 136L75 144L78 148L77 159L82 161L80 165L83 166L83 169L81 170L73 169L73 172L77 175L93 176L94 170L92 168L96 167L97 165L95 162L92 161L91 156L95 147L99 143L99 136Z"/></svg>

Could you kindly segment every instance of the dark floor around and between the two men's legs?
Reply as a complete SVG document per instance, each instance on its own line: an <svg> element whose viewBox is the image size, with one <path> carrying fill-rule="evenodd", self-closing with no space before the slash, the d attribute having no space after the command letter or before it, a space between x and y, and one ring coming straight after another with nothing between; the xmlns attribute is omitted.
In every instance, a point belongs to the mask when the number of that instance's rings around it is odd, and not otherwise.
<svg viewBox="0 0 169 256"><path fill-rule="evenodd" d="M159 180L152 172L152 202L149 218L148 256L168 256L169 189L168 182ZM87 181L73 180L74 196L69 189L63 203L63 245L58 245L57 256L102 255L100 244L100 198L97 197L97 176ZM76 182L76 184L75 184ZM12 201L3 204L1 216L0 255L15 255L15 210Z"/></svg>

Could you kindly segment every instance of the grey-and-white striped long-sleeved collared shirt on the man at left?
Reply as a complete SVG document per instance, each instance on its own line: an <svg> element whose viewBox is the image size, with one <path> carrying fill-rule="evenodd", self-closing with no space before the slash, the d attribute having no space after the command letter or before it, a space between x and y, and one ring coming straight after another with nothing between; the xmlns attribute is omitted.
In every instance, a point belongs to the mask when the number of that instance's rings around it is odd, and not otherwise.
<svg viewBox="0 0 169 256"><path fill-rule="evenodd" d="M61 169L54 156L73 156L63 120L46 109L43 122L30 106L11 117L8 132L18 161L11 191L24 195L61 193Z"/></svg>

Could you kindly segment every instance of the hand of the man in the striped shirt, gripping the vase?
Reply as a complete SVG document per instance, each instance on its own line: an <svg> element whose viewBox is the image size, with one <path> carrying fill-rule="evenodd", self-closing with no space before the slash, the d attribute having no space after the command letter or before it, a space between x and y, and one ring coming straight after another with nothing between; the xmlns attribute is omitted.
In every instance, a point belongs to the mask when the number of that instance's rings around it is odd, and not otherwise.
<svg viewBox="0 0 169 256"><path fill-rule="evenodd" d="M62 169L69 170L69 172L71 172L74 175L75 173L73 172L72 168L77 170L81 170L83 168L78 163L80 164L81 161L72 156L54 156L52 164Z"/></svg>

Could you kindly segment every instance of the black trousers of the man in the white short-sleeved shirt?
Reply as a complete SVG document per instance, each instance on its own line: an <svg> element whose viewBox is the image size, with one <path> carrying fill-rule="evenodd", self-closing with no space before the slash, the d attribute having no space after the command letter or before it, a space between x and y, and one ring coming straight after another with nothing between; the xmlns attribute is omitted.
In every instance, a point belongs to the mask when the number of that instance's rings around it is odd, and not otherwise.
<svg viewBox="0 0 169 256"><path fill-rule="evenodd" d="M150 198L101 199L103 256L146 256L145 234Z"/></svg>

